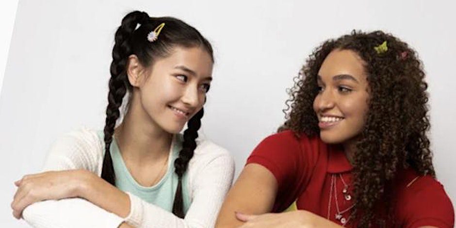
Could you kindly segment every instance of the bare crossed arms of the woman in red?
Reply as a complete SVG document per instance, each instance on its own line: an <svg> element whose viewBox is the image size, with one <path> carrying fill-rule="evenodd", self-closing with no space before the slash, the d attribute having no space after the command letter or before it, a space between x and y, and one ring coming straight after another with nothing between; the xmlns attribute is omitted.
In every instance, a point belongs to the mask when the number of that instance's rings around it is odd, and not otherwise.
<svg viewBox="0 0 456 228"><path fill-rule="evenodd" d="M277 189L277 180L267 168L260 164L247 164L228 192L215 227L341 228L326 218L304 210L270 213Z"/></svg>

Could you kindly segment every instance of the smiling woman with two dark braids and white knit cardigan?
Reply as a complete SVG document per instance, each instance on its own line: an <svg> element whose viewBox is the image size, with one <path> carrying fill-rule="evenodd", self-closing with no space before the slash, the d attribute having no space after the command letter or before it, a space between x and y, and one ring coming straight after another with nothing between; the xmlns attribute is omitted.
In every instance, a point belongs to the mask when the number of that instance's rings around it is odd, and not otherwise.
<svg viewBox="0 0 456 228"><path fill-rule="evenodd" d="M14 216L34 227L213 227L234 162L197 140L212 65L210 43L188 24L139 11L125 16L115 33L104 130L57 141L45 165L53 171L16 181Z"/></svg>

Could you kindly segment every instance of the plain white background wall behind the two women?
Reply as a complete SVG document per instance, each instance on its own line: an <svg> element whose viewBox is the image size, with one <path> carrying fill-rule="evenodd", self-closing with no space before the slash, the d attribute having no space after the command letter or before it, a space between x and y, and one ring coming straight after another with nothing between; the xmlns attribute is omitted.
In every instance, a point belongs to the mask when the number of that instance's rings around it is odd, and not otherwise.
<svg viewBox="0 0 456 228"><path fill-rule="evenodd" d="M3 1L0 11L1 227L27 227L11 216L13 181L38 172L59 135L103 127L114 32L134 9L183 19L212 42L216 64L202 131L228 148L237 174L283 122L285 89L312 49L352 29L399 36L423 60L434 163L456 202L455 1L17 2Z"/></svg>

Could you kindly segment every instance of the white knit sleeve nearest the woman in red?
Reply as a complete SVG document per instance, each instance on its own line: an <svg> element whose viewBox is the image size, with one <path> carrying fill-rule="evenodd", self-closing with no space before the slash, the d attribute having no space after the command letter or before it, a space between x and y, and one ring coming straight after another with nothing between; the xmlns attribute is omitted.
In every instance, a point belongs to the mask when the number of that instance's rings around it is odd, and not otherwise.
<svg viewBox="0 0 456 228"><path fill-rule="evenodd" d="M195 156L189 164L189 180L192 189L190 208L181 219L153 204L130 195L131 209L126 221L137 228L209 228L214 227L234 175L234 161L228 152L214 145L200 145L208 156ZM201 149L201 148L199 148ZM196 152L195 152L196 153ZM212 156L217 154L216 156ZM208 159L210 157L210 159ZM191 169L191 170L190 170Z"/></svg>

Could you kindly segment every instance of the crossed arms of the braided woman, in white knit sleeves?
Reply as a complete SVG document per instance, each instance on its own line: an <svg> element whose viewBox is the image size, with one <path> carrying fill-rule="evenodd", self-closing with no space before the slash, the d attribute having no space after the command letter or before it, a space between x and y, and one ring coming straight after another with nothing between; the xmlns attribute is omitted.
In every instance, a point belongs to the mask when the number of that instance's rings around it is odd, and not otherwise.
<svg viewBox="0 0 456 228"><path fill-rule="evenodd" d="M124 193L98 177L97 135L66 137L50 150L48 171L27 175L16 181L13 214L36 228L58 227L212 227L225 194L231 185L234 163L228 152L216 153L206 147L208 156L195 164L191 185L192 203L184 219L135 195ZM93 140L95 142L87 141ZM81 142L82 141L82 142ZM98 146L97 146L98 147ZM96 154L94 156L93 154ZM83 162L78 162L83 161Z"/></svg>

